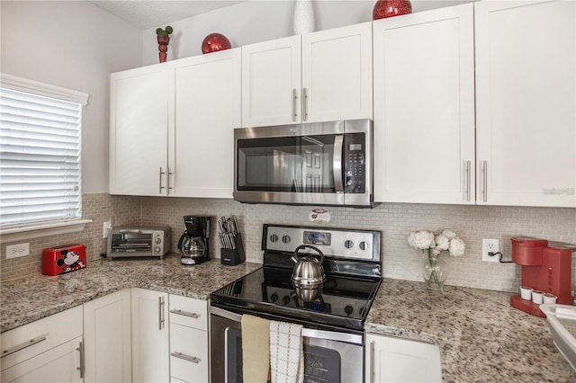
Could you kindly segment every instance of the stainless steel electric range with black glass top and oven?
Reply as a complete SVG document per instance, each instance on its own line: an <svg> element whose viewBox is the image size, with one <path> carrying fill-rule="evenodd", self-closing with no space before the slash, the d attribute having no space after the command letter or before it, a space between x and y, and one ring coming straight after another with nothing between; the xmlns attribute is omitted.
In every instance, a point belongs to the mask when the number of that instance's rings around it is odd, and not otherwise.
<svg viewBox="0 0 576 383"><path fill-rule="evenodd" d="M381 237L376 230L264 225L263 267L211 294L211 380L242 381L240 320L249 314L303 326L304 381L363 381L364 323L382 279ZM300 245L324 254L326 281L312 301L302 300L291 280Z"/></svg>

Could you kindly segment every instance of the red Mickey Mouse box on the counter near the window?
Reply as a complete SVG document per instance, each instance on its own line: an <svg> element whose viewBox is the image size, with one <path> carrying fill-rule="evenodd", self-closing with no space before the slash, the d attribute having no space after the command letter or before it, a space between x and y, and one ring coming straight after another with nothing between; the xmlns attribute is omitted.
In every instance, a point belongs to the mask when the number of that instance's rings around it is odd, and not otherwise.
<svg viewBox="0 0 576 383"><path fill-rule="evenodd" d="M86 267L86 246L68 244L44 249L42 274L58 275Z"/></svg>

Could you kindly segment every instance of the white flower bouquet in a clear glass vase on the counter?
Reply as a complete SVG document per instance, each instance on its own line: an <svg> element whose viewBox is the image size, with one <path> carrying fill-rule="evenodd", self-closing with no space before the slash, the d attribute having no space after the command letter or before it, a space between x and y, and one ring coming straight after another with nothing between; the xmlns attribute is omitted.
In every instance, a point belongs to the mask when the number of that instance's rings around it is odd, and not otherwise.
<svg viewBox="0 0 576 383"><path fill-rule="evenodd" d="M408 245L428 253L428 264L425 265L424 272L428 286L437 285L442 289L446 277L437 264L438 257L445 251L452 256L464 255L466 250L464 241L450 229L441 230L437 234L429 230L413 231L407 239Z"/></svg>

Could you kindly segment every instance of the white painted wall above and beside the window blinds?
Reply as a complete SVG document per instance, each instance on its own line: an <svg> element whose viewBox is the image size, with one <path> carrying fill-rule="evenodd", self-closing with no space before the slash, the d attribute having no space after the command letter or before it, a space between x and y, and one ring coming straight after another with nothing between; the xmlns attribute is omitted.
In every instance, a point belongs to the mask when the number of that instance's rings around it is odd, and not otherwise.
<svg viewBox="0 0 576 383"><path fill-rule="evenodd" d="M0 2L3 73L90 94L82 187L108 191L111 72L139 67L141 31L85 1Z"/></svg>

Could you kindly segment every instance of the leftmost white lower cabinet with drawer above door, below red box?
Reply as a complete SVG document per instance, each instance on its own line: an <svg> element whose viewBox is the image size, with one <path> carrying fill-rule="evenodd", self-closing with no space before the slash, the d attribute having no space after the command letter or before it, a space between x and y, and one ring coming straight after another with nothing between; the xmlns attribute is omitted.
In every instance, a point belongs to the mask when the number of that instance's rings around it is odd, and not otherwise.
<svg viewBox="0 0 576 383"><path fill-rule="evenodd" d="M7 331L0 343L4 383L83 381L82 306Z"/></svg>

